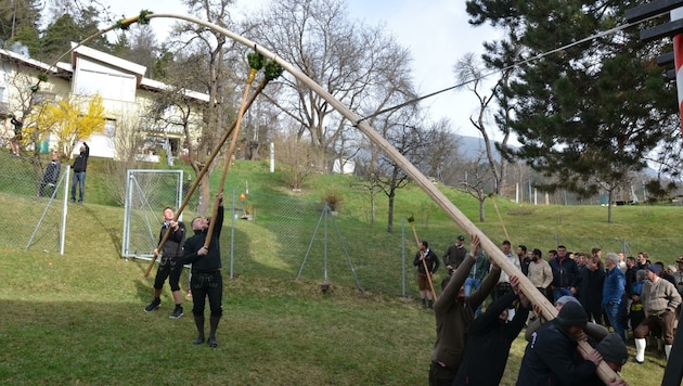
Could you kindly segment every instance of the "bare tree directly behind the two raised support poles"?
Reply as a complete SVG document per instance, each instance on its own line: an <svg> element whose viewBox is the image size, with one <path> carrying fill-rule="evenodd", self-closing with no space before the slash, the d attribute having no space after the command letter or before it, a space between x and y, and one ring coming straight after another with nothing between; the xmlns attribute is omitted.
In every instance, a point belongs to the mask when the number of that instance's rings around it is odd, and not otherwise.
<svg viewBox="0 0 683 386"><path fill-rule="evenodd" d="M230 25L229 7L232 0L184 0L190 13L218 25ZM155 113L165 108L173 108L177 123L182 125L185 132L185 159L196 173L204 168L208 155L217 145L221 134L230 125L230 117L235 116L236 103L231 92L234 89L233 68L242 65L245 69L241 75L246 79L248 66L242 59L242 50L232 50L235 43L228 44L227 39L219 33L197 27L191 24L179 24L171 35L170 47L176 50L179 59L168 69L167 82L175 85L172 92L167 93L165 104L157 104ZM232 55L229 52L233 52ZM185 90L196 90L209 95L209 103L197 111L197 105L184 98ZM233 103L234 102L234 103ZM199 113L203 121L195 125L193 117ZM195 129L201 130L197 136ZM209 178L216 164L208 166L207 172L199 181L199 200L197 213L209 211Z"/></svg>

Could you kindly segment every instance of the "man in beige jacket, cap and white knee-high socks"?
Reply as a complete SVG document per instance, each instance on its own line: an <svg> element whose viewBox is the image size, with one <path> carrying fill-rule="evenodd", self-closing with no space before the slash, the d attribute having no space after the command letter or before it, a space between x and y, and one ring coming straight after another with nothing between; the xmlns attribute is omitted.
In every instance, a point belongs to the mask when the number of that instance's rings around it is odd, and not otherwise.
<svg viewBox="0 0 683 386"><path fill-rule="evenodd" d="M671 353L673 344L673 321L675 320L676 307L681 304L681 295L673 284L659 278L661 268L657 265L648 265L645 271L647 282L643 285L643 309L645 320L633 330L635 340L635 361L645 361L645 348L647 340L645 337L650 331L660 332L665 343L665 353L667 360Z"/></svg>

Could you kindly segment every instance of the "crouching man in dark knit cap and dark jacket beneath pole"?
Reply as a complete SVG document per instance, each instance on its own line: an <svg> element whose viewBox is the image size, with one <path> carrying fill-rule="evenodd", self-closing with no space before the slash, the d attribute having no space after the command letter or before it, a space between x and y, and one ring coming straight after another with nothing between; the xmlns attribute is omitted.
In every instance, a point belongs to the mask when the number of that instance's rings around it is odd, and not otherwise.
<svg viewBox="0 0 683 386"><path fill-rule="evenodd" d="M587 323L588 316L580 304L565 304L557 318L531 335L519 366L517 385L579 385L588 381L602 357L596 350L583 358L576 355L577 338Z"/></svg>

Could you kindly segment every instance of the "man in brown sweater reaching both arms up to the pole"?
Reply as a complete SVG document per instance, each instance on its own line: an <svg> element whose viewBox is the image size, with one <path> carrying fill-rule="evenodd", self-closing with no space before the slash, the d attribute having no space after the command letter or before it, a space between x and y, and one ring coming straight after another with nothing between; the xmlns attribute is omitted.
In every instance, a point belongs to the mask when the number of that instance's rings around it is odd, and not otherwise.
<svg viewBox="0 0 683 386"><path fill-rule="evenodd" d="M441 282L443 292L434 304L437 336L429 365L430 386L450 386L465 355L465 336L475 310L491 294L501 269L493 266L481 286L465 297L463 284L479 254L479 236L472 235L471 253L455 272Z"/></svg>

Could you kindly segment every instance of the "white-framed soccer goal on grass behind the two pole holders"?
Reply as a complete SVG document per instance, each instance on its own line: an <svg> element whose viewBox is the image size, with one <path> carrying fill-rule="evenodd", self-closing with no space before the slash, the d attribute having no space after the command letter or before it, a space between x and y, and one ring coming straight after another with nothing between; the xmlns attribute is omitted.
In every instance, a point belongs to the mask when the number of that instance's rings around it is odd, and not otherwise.
<svg viewBox="0 0 683 386"><path fill-rule="evenodd" d="M128 170L121 257L153 259L164 208L180 206L182 182L182 170Z"/></svg>

